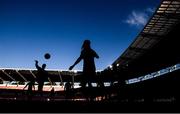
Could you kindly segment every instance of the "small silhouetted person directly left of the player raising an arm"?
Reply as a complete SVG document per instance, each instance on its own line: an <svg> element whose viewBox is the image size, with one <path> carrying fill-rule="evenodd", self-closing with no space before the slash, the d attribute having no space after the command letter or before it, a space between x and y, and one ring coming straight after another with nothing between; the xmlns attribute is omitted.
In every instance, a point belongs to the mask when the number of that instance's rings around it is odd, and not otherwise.
<svg viewBox="0 0 180 114"><path fill-rule="evenodd" d="M23 88L23 90L28 86L28 91L27 91L27 94L28 94L28 99L31 99L31 97L32 97L32 94L33 94L33 88L34 88L34 90L35 90L35 80L34 79L32 79L30 82L28 82L27 84L26 84L26 86Z"/></svg>

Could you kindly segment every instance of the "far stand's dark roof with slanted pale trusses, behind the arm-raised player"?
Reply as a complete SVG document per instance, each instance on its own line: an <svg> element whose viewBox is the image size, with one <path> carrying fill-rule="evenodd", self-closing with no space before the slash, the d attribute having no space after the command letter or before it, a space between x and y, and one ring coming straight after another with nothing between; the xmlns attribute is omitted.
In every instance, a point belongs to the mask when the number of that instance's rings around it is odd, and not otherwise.
<svg viewBox="0 0 180 114"><path fill-rule="evenodd" d="M81 75L81 71L65 71L65 70L46 70L49 74L47 81L61 82L78 81L75 76ZM19 69L19 68L0 68L0 81L20 81L27 82L37 78L37 70L35 69Z"/></svg>

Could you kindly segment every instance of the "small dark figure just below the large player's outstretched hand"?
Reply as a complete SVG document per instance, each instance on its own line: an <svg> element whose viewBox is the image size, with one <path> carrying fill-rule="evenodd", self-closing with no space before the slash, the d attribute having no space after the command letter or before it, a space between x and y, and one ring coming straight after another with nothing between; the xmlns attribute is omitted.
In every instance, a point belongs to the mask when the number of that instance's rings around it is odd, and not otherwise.
<svg viewBox="0 0 180 114"><path fill-rule="evenodd" d="M66 99L69 99L72 97L72 84L69 81L67 81L64 86L64 92L65 92Z"/></svg>

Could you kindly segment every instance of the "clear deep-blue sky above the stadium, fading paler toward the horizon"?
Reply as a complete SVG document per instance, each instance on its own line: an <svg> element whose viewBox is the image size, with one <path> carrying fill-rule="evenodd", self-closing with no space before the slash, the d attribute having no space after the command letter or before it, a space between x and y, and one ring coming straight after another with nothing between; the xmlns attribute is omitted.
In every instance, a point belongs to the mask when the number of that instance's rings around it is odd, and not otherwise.
<svg viewBox="0 0 180 114"><path fill-rule="evenodd" d="M113 63L135 39L160 0L1 0L0 68L67 70L85 39L99 54L97 70ZM49 60L44 54L51 54ZM82 62L74 69L81 70Z"/></svg>

